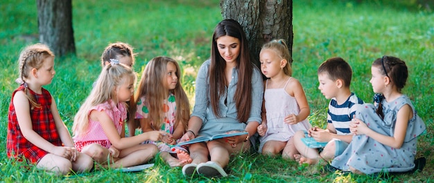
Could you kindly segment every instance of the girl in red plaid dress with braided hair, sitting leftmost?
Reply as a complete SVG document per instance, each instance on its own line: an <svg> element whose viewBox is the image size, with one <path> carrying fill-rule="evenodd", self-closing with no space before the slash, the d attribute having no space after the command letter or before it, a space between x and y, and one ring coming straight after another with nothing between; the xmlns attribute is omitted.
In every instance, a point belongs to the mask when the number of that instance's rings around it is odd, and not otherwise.
<svg viewBox="0 0 434 183"><path fill-rule="evenodd" d="M35 44L19 55L21 84L13 93L8 112L8 157L26 160L37 168L66 175L89 171L92 158L78 153L55 100L42 86L55 75L54 55L48 46Z"/></svg>

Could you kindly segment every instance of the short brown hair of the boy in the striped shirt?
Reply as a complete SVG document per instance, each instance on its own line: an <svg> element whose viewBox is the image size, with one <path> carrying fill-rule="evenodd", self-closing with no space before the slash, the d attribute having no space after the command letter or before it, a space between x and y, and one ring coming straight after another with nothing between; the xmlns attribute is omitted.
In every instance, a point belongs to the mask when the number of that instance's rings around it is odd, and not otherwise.
<svg viewBox="0 0 434 183"><path fill-rule="evenodd" d="M351 84L351 76L353 75L353 70L351 66L342 59L341 57L331 57L326 61L322 62L318 68L318 74L325 73L329 75L332 81L342 79L344 81L344 86L349 88Z"/></svg>

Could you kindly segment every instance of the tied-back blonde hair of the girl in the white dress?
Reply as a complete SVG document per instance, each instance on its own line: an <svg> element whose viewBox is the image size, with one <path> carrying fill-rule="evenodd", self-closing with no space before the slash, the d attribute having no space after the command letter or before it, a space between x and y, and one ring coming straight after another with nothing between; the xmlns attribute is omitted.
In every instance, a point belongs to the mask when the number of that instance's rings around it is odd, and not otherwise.
<svg viewBox="0 0 434 183"><path fill-rule="evenodd" d="M288 76L293 75L293 69L290 66L293 63L293 58L289 54L288 45L284 39L274 39L264 44L261 50L264 49L274 50L279 57L286 59L286 66L283 68L284 73Z"/></svg>

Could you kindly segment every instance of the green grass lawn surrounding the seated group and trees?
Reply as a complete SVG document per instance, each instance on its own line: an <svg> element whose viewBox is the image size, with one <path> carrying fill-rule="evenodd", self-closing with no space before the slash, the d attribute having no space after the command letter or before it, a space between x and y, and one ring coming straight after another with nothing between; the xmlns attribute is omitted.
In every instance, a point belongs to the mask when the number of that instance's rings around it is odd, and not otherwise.
<svg viewBox="0 0 434 183"><path fill-rule="evenodd" d="M229 177L183 177L180 168L169 168L155 158L155 166L141 173L114 170L55 177L6 157L8 105L17 87L17 58L21 48L37 42L35 1L2 1L0 4L0 182L434 182L433 83L434 15L402 4L379 1L295 0L293 6L294 77L300 79L311 106L309 120L324 126L327 99L318 90L316 69L329 57L339 56L351 64L351 90L365 102L372 101L370 65L382 55L406 61L409 78L403 93L415 105L428 126L419 138L417 156L425 156L422 173L390 178L369 175L320 173L315 167L298 166L281 157L256 153L236 155L229 162ZM146 62L166 55L180 61L183 85L193 104L198 66L209 57L211 35L221 20L218 1L73 1L73 28L77 56L56 58L57 74L46 88L55 97L60 115L71 128L73 115L89 94L101 70L99 57L107 44L125 41L134 46L141 73ZM193 71L191 71L193 70ZM188 72L187 72L188 71Z"/></svg>

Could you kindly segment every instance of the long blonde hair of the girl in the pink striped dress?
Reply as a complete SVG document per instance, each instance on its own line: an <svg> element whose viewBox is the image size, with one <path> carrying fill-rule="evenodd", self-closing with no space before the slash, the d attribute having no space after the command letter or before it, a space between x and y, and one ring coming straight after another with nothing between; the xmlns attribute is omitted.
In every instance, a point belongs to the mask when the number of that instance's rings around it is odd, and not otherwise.
<svg viewBox="0 0 434 183"><path fill-rule="evenodd" d="M103 68L90 95L80 106L72 126L73 133L84 135L89 125L89 110L107 101L118 103L116 93L125 81L135 80L132 69L123 64L108 64Z"/></svg>

